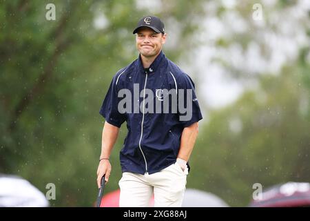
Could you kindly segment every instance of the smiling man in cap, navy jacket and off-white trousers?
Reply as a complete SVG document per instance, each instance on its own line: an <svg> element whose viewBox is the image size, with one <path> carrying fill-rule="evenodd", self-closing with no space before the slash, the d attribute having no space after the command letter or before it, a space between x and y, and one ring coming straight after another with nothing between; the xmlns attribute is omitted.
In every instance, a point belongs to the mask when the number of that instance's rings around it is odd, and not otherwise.
<svg viewBox="0 0 310 221"><path fill-rule="evenodd" d="M146 16L134 30L138 59L114 75L101 106L105 117L97 171L109 180L109 157L118 131L127 122L120 153L123 176L120 206L181 206L188 160L202 119L194 83L165 57L167 34L158 17ZM185 108L186 107L186 108Z"/></svg>

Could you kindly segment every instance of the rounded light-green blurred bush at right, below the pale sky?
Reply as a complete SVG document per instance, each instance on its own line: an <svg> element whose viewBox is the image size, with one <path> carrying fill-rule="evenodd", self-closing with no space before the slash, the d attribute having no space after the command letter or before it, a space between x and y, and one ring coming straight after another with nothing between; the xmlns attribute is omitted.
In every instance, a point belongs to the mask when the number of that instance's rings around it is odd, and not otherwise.
<svg viewBox="0 0 310 221"><path fill-rule="evenodd" d="M220 195L231 206L247 206L254 183L310 180L309 90L287 67L260 77L260 87L210 113L192 155L190 186ZM297 78L296 78L297 77Z"/></svg>

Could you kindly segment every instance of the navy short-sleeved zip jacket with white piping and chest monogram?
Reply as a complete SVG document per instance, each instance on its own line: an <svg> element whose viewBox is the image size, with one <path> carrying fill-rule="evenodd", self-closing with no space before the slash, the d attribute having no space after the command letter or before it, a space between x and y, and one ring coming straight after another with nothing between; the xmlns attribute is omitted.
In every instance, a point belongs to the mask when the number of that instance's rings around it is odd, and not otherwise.
<svg viewBox="0 0 310 221"><path fill-rule="evenodd" d="M164 89L171 93L165 93ZM186 93L187 89L192 94ZM181 116L186 115L178 108L180 97L185 97L184 107L189 101L192 104L190 118L185 120L180 120ZM163 104L164 99L169 104L169 111ZM139 56L132 64L119 70L112 79L100 114L117 127L127 122L128 133L120 153L121 169L140 174L156 173L174 164L183 128L203 119L194 82L163 52L149 68L143 68Z"/></svg>

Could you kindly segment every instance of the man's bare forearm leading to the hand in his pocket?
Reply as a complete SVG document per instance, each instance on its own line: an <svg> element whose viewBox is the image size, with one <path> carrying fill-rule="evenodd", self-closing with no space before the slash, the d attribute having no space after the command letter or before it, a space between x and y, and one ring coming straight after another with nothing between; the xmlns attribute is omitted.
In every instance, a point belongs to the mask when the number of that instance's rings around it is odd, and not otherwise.
<svg viewBox="0 0 310 221"><path fill-rule="evenodd" d="M180 150L178 151L178 158L185 160L186 162L189 160L196 142L197 135L198 122L183 129L180 140Z"/></svg>

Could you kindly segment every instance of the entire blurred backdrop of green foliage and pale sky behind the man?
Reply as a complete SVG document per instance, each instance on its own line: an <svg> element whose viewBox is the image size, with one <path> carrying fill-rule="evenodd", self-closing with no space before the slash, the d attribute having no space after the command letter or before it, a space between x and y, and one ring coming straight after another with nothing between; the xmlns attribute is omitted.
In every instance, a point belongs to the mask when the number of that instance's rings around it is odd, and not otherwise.
<svg viewBox="0 0 310 221"><path fill-rule="evenodd" d="M309 182L309 0L1 0L0 173L44 195L54 184L50 206L94 206L99 109L138 57L132 30L144 15L165 22L163 51L203 109L187 188L248 206L254 184ZM118 189L126 131L105 193Z"/></svg>

